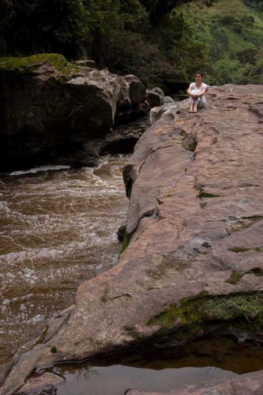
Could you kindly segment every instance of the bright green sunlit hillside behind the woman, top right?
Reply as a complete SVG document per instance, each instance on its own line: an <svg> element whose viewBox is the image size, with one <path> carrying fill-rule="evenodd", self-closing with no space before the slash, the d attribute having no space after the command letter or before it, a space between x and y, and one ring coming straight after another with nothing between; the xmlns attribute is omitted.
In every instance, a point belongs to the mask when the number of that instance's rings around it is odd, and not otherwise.
<svg viewBox="0 0 263 395"><path fill-rule="evenodd" d="M196 10L194 5L190 12ZM207 63L213 64L212 73L203 68L208 83L262 83L263 15L259 11L256 2L246 0L220 0L202 9L195 39L204 43Z"/></svg>

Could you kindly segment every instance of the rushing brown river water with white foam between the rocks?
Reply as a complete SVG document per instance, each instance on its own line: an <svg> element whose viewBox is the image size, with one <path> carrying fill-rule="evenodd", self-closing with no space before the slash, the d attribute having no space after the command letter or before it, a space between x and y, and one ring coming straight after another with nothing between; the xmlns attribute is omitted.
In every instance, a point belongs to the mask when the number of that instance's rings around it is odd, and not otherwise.
<svg viewBox="0 0 263 395"><path fill-rule="evenodd" d="M127 158L0 175L0 361L72 305L80 283L116 264Z"/></svg>

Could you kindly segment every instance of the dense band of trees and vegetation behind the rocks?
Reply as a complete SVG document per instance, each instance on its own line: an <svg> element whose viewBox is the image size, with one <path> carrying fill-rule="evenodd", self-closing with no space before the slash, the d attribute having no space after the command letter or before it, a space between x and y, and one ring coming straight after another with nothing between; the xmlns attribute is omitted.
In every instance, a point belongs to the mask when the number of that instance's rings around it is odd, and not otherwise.
<svg viewBox="0 0 263 395"><path fill-rule="evenodd" d="M133 73L148 85L163 79L188 81L196 70L204 71L212 84L263 83L263 0L4 3L4 55L88 57L114 73Z"/></svg>

